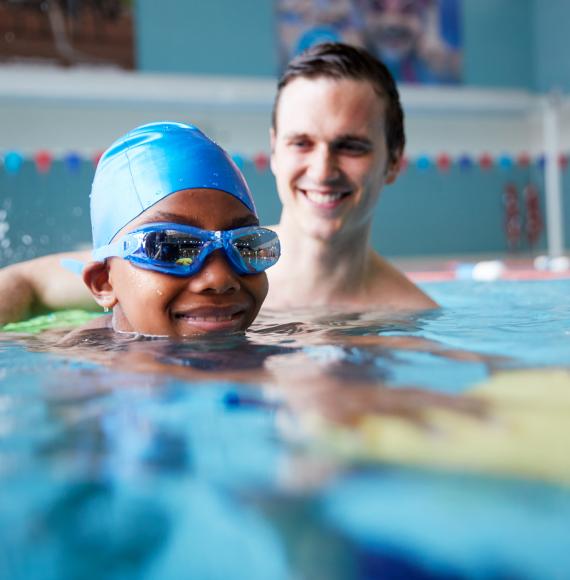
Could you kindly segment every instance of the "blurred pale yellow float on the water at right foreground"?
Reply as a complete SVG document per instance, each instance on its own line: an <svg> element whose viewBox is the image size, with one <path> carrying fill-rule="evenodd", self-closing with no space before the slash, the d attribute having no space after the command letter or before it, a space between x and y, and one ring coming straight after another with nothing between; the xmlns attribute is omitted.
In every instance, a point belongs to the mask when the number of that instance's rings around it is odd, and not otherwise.
<svg viewBox="0 0 570 580"><path fill-rule="evenodd" d="M570 485L570 372L500 372L467 395L483 417L426 408L424 425L367 414L356 426L307 417L310 433L343 458L494 473Z"/></svg>

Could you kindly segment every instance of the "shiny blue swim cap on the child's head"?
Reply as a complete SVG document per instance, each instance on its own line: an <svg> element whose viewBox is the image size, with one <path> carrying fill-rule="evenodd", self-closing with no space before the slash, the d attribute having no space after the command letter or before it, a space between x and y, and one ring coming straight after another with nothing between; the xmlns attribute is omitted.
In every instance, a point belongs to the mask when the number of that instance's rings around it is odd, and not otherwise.
<svg viewBox="0 0 570 580"><path fill-rule="evenodd" d="M218 189L257 215L249 187L230 156L196 127L142 125L103 153L91 188L93 247L165 197L182 189Z"/></svg>

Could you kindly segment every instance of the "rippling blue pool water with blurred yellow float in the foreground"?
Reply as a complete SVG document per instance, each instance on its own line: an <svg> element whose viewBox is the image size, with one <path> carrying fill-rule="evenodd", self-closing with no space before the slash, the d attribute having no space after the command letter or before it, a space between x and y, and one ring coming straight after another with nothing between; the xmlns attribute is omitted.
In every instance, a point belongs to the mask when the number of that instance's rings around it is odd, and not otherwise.
<svg viewBox="0 0 570 580"><path fill-rule="evenodd" d="M0 577L568 577L570 281L425 289L223 341L10 335Z"/></svg>

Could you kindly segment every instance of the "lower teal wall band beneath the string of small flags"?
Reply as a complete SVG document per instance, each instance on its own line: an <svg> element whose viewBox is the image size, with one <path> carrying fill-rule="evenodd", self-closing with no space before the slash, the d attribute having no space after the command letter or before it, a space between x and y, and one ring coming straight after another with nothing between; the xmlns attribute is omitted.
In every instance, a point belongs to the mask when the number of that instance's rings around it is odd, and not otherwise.
<svg viewBox="0 0 570 580"><path fill-rule="evenodd" d="M88 245L93 172L90 160L73 170L55 161L46 174L38 173L31 161L16 175L0 170L0 264ZM244 172L261 221L275 223L280 203L272 174L258 171L251 162L245 164ZM433 167L409 167L382 193L372 231L374 246L392 256L503 252L507 247L502 205L505 183L517 184L522 192L529 180L540 183L540 173L518 167L466 172L454 166L446 173ZM569 210L566 204L567 223ZM9 229L4 231L2 223ZM10 245L2 247L2 240L9 240ZM544 235L538 248L544 248Z"/></svg>

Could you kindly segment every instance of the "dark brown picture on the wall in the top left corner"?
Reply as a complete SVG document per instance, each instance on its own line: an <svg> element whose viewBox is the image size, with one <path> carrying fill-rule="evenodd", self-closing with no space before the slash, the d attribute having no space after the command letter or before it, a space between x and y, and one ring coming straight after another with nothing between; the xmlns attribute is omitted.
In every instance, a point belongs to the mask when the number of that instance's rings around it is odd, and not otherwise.
<svg viewBox="0 0 570 580"><path fill-rule="evenodd" d="M133 0L0 0L0 63L134 67Z"/></svg>

